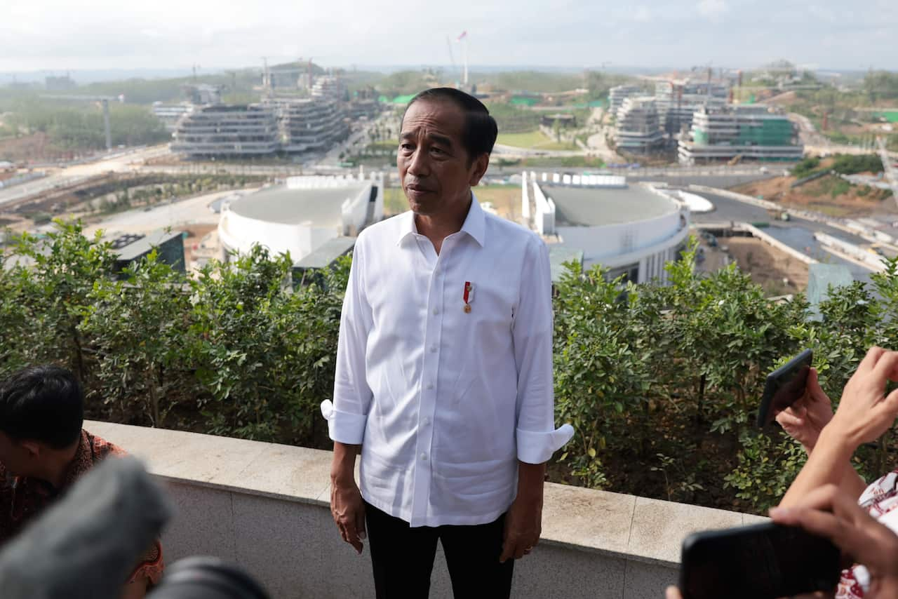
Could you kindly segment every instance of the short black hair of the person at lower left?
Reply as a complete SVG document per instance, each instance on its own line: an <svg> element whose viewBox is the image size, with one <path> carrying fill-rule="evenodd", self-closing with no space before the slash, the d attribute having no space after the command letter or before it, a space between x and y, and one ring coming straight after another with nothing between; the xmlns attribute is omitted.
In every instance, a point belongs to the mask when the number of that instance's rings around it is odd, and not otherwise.
<svg viewBox="0 0 898 599"><path fill-rule="evenodd" d="M84 389L66 368L31 366L0 384L0 431L65 449L81 436Z"/></svg>

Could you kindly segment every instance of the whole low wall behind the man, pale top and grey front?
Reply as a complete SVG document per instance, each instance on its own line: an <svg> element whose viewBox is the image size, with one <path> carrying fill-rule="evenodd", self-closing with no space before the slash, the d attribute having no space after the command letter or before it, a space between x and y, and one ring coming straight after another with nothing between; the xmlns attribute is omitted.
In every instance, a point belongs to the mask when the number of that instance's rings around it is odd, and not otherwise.
<svg viewBox="0 0 898 599"><path fill-rule="evenodd" d="M166 560L216 555L240 563L273 597L374 597L371 562L330 516L330 452L158 428L86 422L143 459L178 515ZM689 533L759 518L567 485L546 485L542 541L515 565L520 599L657 599L677 578ZM365 553L367 549L365 549ZM438 553L431 596L451 596Z"/></svg>

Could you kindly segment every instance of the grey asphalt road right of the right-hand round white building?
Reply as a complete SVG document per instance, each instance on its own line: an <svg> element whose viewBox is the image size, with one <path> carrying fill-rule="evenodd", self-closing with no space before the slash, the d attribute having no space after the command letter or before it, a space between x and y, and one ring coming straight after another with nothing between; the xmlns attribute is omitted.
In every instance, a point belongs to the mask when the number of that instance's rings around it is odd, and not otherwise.
<svg viewBox="0 0 898 599"><path fill-rule="evenodd" d="M697 192L691 192L697 193ZM697 193L702 198L708 199L714 204L715 210L705 214L692 215L696 223L719 223L722 221L742 221L745 223L770 222L770 227L764 229L771 237L785 243L790 248L801 251L814 260L829 264L844 264L851 271L851 276L858 281L870 281L870 270L865 269L850 260L844 260L823 249L823 245L814 239L814 232L826 233L846 242L857 245L865 245L868 242L857 235L845 233L840 229L822 223L814 223L801 218L794 218L786 223L771 221L767 210L762 207L745 204L735 199L724 198L710 193Z"/></svg>

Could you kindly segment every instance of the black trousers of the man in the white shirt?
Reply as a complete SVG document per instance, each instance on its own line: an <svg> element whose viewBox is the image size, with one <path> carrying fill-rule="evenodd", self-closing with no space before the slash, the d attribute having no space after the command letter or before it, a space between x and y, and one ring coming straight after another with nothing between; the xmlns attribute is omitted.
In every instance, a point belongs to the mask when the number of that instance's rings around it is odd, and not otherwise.
<svg viewBox="0 0 898 599"><path fill-rule="evenodd" d="M515 560L499 563L505 515L476 526L420 526L365 502L377 599L427 599L437 540L443 543L455 599L508 599Z"/></svg>

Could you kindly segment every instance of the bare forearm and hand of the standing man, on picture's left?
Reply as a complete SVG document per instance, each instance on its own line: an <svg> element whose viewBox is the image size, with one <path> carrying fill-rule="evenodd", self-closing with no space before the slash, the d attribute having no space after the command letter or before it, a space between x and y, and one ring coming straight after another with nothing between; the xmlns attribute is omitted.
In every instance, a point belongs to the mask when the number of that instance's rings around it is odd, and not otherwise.
<svg viewBox="0 0 898 599"><path fill-rule="evenodd" d="M337 523L343 541L362 552L365 540L365 502L356 484L356 455L358 445L334 443L333 463L330 466L330 515Z"/></svg>

